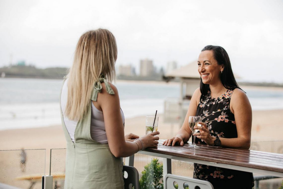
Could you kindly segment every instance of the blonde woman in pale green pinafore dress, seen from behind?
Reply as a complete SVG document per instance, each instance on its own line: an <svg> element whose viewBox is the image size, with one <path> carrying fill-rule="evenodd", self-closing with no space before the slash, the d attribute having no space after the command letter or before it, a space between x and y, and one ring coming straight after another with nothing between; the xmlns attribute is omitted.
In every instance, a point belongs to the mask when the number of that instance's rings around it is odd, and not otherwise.
<svg viewBox="0 0 283 189"><path fill-rule="evenodd" d="M109 82L116 59L115 37L107 29L80 37L60 97L67 140L65 189L124 188L122 157L158 144L158 131L124 136L118 91Z"/></svg>

